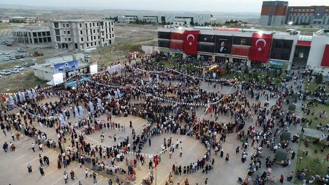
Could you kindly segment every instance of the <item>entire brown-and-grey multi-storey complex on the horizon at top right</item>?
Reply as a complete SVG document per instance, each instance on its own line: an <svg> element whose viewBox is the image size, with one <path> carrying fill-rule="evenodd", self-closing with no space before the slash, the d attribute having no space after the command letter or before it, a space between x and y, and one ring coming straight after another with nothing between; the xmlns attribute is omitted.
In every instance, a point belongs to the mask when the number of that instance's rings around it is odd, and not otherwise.
<svg viewBox="0 0 329 185"><path fill-rule="evenodd" d="M288 6L284 1L264 1L259 24L329 27L329 6Z"/></svg>

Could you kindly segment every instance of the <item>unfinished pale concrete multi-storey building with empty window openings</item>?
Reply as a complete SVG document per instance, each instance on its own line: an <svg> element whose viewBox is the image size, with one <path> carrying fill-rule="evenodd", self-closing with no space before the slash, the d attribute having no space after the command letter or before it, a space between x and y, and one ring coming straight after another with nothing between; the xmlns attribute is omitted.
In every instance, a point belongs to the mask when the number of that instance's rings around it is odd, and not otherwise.
<svg viewBox="0 0 329 185"><path fill-rule="evenodd" d="M59 20L50 23L55 48L88 50L114 44L113 20Z"/></svg>

